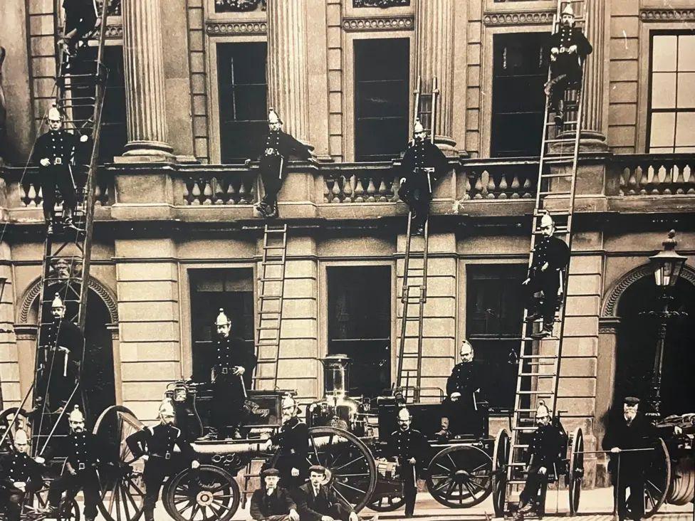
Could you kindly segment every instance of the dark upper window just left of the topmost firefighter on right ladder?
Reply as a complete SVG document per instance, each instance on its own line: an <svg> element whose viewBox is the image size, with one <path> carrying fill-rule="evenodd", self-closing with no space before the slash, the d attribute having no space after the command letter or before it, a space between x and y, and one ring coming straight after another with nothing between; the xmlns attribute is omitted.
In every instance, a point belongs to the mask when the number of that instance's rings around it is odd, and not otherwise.
<svg viewBox="0 0 695 521"><path fill-rule="evenodd" d="M540 153L548 53L548 33L494 36L491 156Z"/></svg>

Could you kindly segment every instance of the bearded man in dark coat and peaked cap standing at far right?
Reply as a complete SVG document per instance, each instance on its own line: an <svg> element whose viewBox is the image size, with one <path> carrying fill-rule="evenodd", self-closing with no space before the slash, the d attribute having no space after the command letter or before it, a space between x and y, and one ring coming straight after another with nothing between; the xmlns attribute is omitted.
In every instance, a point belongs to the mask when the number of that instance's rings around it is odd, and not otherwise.
<svg viewBox="0 0 695 521"><path fill-rule="evenodd" d="M629 449L654 447L660 435L683 432L679 426L657 429L638 408L639 399L627 396L623 401L622 414L609 421L602 442L603 450L610 451L608 471L614 490L617 488L613 497L621 520L629 517L637 521L644 515L644 472L651 459L649 453L630 452ZM660 433L661 430L664 432ZM626 500L628 488L630 492Z"/></svg>

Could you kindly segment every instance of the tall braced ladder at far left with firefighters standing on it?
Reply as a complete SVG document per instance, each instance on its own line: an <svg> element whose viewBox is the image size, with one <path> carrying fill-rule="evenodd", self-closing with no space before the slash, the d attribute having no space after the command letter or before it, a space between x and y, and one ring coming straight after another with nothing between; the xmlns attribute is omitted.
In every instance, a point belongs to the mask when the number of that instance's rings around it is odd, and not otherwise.
<svg viewBox="0 0 695 521"><path fill-rule="evenodd" d="M88 281L90 270L90 255L92 246L92 232L94 221L94 191L96 186L96 176L98 169L99 136L102 108L105 96L105 85L108 76L108 69L103 64L103 49L105 43L106 19L110 12L115 9L115 5L120 0L103 0L100 4L101 12L98 19L101 21L95 30L85 36L82 48L76 56L68 57L61 50L61 46L56 45L56 93L55 105L63 115L63 125L66 130L73 130L81 134L88 135L91 139L82 143L80 154L73 157L72 165L73 179L77 182L77 201L78 205L73 215L75 228L68 226L56 229L56 233L47 234L43 246L43 266L41 270L41 291L39 295L38 308L38 335L36 348L35 377L38 378L38 369L41 364L41 344L42 330L41 322L50 317L51 302L54 293L61 295L66 305L66 315L64 320L70 320L78 325L80 331L84 332L86 304L88 293ZM60 26L61 1L54 3L54 25ZM58 38L58 31L56 31ZM85 48L95 48L95 59L85 58ZM45 120L42 118L39 127L43 126ZM41 128L39 128L41 130ZM75 159L86 159L88 162L77 164ZM84 185L80 186L80 179L84 179ZM56 263L63 263L69 269L69 275L59 273L55 269ZM57 291L56 289L59 288ZM84 353L84 349L83 349ZM84 356L83 361L84 363ZM83 372L83 363L80 364L80 377ZM46 377L50 379L50 371ZM85 411L85 399L83 391L80 390L80 377L75 384L68 404L80 404ZM43 384L48 393L50 381ZM39 396L36 389L36 380L23 397L19 409L26 406L29 396L33 395L33 410L31 421L28 428L31 428L32 452L37 456L46 450L48 443L55 436L61 436L66 431L67 421L64 416L68 414L69 408L64 409L58 414L51 413L47 409L48 396ZM86 414L85 414L86 416ZM16 414L5 435L14 431L16 422L20 415ZM63 425L62 427L61 424ZM4 440L3 440L4 441ZM2 443L0 442L0 446Z"/></svg>

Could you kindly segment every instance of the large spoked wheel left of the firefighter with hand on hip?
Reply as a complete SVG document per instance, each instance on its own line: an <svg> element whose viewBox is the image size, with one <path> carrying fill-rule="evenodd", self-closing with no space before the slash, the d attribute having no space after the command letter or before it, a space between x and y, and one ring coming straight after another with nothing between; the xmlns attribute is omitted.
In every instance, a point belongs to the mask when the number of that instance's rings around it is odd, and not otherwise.
<svg viewBox="0 0 695 521"><path fill-rule="evenodd" d="M110 406L100 414L93 432L108 450L108 460L114 468L99 473L101 514L107 521L135 521L142 515L145 485L142 483L142 463L134 463L125 440L143 425L130 409Z"/></svg>

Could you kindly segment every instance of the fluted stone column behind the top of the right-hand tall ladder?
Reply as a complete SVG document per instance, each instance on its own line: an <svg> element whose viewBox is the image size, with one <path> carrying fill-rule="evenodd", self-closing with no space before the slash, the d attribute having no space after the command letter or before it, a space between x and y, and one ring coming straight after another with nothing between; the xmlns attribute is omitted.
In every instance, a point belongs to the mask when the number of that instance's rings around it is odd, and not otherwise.
<svg viewBox="0 0 695 521"><path fill-rule="evenodd" d="M605 0L587 0L586 36L594 48L584 65L582 149L607 149L604 133Z"/></svg>

